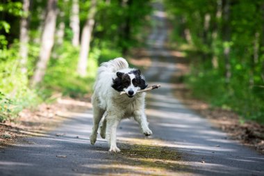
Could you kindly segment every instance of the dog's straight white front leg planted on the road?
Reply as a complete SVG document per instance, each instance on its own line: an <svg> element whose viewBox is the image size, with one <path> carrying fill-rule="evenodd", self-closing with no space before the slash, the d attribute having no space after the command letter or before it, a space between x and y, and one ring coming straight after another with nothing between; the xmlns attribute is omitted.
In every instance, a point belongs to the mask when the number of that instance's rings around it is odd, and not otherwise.
<svg viewBox="0 0 264 176"><path fill-rule="evenodd" d="M117 126L119 120L115 117L108 116L106 121L106 138L110 145L109 152L120 152L117 147Z"/></svg>

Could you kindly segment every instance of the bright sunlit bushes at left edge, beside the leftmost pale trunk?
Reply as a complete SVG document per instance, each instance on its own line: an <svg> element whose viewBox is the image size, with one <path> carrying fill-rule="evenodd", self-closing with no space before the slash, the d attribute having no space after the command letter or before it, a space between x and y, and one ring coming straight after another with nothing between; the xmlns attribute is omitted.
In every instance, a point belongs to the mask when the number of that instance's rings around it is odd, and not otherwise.
<svg viewBox="0 0 264 176"><path fill-rule="evenodd" d="M15 116L25 107L39 104L41 99L36 90L28 88L28 78L21 73L18 58L18 43L1 50L0 55L0 122Z"/></svg>

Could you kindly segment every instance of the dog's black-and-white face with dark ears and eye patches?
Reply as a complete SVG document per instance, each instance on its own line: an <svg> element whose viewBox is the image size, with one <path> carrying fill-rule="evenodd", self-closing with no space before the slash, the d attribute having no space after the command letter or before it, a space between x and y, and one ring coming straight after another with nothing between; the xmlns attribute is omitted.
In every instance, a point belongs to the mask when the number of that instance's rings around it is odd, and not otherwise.
<svg viewBox="0 0 264 176"><path fill-rule="evenodd" d="M131 70L129 73L117 72L112 88L119 92L125 91L127 96L134 97L138 90L147 88L147 83L140 70Z"/></svg>

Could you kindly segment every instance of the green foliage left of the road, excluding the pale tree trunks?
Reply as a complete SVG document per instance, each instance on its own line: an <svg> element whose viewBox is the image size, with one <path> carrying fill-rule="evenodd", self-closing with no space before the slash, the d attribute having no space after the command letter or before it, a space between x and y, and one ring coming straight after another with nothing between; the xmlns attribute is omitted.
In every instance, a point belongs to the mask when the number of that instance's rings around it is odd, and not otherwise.
<svg viewBox="0 0 264 176"><path fill-rule="evenodd" d="M0 122L15 118L19 111L49 101L54 93L82 97L92 92L92 83L100 63L123 56L124 51L138 45L145 17L151 12L147 1L97 1L92 43L88 60L88 76L76 74L79 47L72 46L72 1L58 1L57 27L65 24L63 44L55 41L44 80L38 87L30 86L40 55L40 38L47 1L31 1L30 12L22 10L22 1L0 2ZM79 1L80 29L85 24L90 1ZM138 10L140 8L140 10ZM19 56L19 28L21 17L28 17L29 42L27 72L22 73ZM144 25L143 25L144 24Z"/></svg>

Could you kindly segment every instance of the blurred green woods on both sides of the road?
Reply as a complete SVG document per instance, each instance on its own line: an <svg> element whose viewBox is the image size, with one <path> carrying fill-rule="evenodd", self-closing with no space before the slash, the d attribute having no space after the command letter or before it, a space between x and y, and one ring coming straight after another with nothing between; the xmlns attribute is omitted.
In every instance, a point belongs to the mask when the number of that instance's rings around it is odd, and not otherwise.
<svg viewBox="0 0 264 176"><path fill-rule="evenodd" d="M1 0L0 121L89 97L100 63L146 47L152 0ZM164 0L192 96L264 122L264 1ZM140 61L138 61L140 62Z"/></svg>

